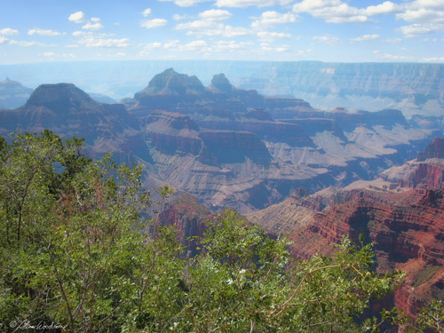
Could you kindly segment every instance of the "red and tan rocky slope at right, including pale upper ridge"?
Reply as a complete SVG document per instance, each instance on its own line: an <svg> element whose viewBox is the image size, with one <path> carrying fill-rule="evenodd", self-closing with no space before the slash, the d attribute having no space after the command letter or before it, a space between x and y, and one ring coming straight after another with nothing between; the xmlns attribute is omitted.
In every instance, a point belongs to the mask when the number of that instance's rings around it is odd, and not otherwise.
<svg viewBox="0 0 444 333"><path fill-rule="evenodd" d="M359 234L373 242L377 270L407 273L392 302L415 315L430 298L444 297L444 139L434 139L416 160L386 170L382 178L289 199L248 216L272 234L293 241L292 255L329 255L332 243ZM387 304L390 305L390 304Z"/></svg>

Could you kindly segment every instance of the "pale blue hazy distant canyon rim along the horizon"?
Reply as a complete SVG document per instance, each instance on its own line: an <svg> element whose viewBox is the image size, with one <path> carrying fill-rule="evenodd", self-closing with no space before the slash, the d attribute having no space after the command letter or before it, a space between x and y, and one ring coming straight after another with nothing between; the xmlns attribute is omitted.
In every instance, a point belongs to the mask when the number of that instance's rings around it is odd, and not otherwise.
<svg viewBox="0 0 444 333"><path fill-rule="evenodd" d="M417 63L328 63L321 61L100 61L0 66L0 77L25 86L75 83L84 91L120 100L167 67L209 84L225 73L235 86L268 96L307 100L313 107L377 111L400 109L406 117L444 114L444 65ZM0 100L1 102L1 100ZM1 103L0 103L1 104Z"/></svg>

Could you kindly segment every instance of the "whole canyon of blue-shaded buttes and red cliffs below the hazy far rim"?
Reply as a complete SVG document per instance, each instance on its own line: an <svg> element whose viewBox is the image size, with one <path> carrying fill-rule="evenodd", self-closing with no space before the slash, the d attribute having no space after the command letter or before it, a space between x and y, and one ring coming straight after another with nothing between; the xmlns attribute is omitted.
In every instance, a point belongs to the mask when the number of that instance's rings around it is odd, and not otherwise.
<svg viewBox="0 0 444 333"><path fill-rule="evenodd" d="M382 94L374 97L388 98ZM142 164L144 186L172 186L177 195L159 218L178 228L188 255L196 251L189 237L230 207L268 234L289 237L295 258L330 255L332 243L345 235L358 242L363 234L375 244L380 273L407 273L387 305L408 314L444 297L444 139L436 138L443 136L442 116L326 111L238 88L224 74L204 86L170 68L118 104L55 83L0 110L0 135L9 140L12 131L44 129L84 138L93 158L112 153L117 163Z"/></svg>

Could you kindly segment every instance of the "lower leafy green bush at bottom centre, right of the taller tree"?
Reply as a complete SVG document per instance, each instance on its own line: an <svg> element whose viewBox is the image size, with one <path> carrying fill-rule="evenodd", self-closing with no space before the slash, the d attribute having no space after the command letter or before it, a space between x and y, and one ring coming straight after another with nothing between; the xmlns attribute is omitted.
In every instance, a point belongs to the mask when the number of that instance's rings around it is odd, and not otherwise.
<svg viewBox="0 0 444 333"><path fill-rule="evenodd" d="M185 331L361 332L369 300L401 274L371 270L371 245L344 239L334 258L294 262L284 239L271 240L231 210L210 222L189 269Z"/></svg>

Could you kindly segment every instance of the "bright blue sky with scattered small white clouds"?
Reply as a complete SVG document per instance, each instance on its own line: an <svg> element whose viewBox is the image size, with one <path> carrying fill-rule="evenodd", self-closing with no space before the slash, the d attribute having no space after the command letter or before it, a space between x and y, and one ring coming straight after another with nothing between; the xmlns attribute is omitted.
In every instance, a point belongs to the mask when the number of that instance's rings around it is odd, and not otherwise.
<svg viewBox="0 0 444 333"><path fill-rule="evenodd" d="M444 63L444 0L0 0L0 64Z"/></svg>

